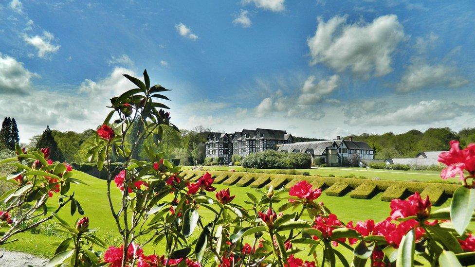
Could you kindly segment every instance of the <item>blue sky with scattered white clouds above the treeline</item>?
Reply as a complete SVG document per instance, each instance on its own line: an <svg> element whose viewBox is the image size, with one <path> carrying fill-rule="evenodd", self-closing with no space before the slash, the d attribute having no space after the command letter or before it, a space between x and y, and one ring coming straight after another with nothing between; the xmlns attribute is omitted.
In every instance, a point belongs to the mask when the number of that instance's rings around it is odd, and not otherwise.
<svg viewBox="0 0 475 267"><path fill-rule="evenodd" d="M179 128L294 136L475 125L475 2L0 1L0 118L20 142L100 125L122 74Z"/></svg>

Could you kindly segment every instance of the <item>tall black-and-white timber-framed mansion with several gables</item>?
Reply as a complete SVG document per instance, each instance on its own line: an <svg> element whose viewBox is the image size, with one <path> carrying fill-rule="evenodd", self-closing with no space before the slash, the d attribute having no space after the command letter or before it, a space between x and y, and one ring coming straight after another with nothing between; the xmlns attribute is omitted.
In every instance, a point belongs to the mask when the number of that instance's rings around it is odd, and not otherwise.
<svg viewBox="0 0 475 267"><path fill-rule="evenodd" d="M254 152L277 150L278 144L293 143L292 134L284 130L242 130L234 133L210 133L206 140L206 158L231 162L233 154L245 157Z"/></svg>

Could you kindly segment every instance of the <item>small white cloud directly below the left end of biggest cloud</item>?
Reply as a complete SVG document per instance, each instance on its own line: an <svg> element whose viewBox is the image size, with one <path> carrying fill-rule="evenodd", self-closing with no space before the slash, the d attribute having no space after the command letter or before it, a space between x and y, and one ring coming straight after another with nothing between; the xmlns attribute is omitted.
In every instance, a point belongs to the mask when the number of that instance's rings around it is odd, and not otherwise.
<svg viewBox="0 0 475 267"><path fill-rule="evenodd" d="M315 76L311 75L307 78L302 88L302 94L298 98L299 104L311 105L318 103L323 97L331 94L340 85L340 76L333 75L327 80L320 80L314 83Z"/></svg>

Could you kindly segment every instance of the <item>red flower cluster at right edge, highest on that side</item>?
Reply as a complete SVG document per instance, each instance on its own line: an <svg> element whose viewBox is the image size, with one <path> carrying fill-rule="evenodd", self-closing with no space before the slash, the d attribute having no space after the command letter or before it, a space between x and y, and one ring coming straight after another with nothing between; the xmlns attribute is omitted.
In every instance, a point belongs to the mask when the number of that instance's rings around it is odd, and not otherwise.
<svg viewBox="0 0 475 267"><path fill-rule="evenodd" d="M475 143L467 145L465 149L460 149L458 141L450 141L450 150L440 153L438 162L447 165L440 173L442 179L458 175L460 180L464 180L464 170L470 173L470 177L473 177L475 174Z"/></svg>

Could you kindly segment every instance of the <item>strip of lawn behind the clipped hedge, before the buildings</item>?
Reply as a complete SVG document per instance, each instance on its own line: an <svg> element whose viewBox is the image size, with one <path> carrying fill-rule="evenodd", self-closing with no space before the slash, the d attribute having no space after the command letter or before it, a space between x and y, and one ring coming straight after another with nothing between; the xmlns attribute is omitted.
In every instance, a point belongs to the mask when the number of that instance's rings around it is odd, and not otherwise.
<svg viewBox="0 0 475 267"><path fill-rule="evenodd" d="M191 168L186 166L184 168ZM209 170L230 170L235 169L240 171L244 169L241 166L203 166L204 169ZM262 169L262 171L275 171L275 169ZM368 169L352 167L318 167L312 169L298 169L300 172L309 172L311 175L321 175L328 176L333 174L336 177L343 177L349 174L354 174L355 176L365 176L366 178L382 178L387 180L400 180L400 181L409 181L417 180L421 182L429 182L434 180L440 180L440 172L436 171L395 171L395 170L381 170L381 169Z"/></svg>

